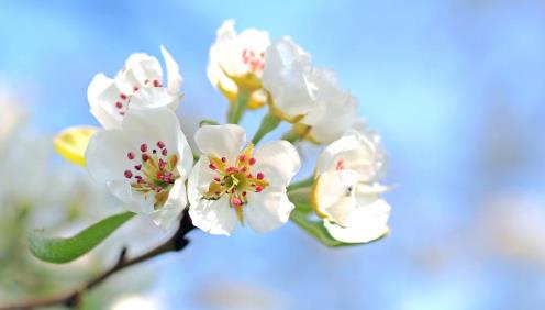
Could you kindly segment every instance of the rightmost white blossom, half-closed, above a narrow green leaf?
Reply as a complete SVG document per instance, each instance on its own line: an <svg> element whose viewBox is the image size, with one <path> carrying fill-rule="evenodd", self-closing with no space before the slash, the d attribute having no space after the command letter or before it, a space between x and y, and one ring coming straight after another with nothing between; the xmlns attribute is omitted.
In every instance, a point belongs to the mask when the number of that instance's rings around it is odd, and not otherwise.
<svg viewBox="0 0 545 310"><path fill-rule="evenodd" d="M378 179L386 156L376 134L349 131L320 155L312 200L324 226L338 241L364 243L388 233L390 206Z"/></svg>

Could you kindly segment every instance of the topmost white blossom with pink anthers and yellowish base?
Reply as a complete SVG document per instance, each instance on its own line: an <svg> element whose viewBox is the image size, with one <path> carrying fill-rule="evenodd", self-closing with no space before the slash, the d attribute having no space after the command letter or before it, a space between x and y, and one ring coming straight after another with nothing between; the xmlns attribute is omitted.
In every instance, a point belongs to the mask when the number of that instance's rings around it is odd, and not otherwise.
<svg viewBox="0 0 545 310"><path fill-rule="evenodd" d="M210 47L207 74L210 82L234 103L240 88L252 91L248 108L259 108L267 97L259 79L265 63L265 51L270 45L266 31L246 29L236 33L234 20L226 20L216 32Z"/></svg>

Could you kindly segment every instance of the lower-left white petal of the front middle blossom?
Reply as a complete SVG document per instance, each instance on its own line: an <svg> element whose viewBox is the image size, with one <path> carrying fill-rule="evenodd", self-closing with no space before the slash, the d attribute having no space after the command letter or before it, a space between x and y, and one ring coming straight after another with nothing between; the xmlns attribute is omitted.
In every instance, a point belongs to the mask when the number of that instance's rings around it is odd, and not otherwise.
<svg viewBox="0 0 545 310"><path fill-rule="evenodd" d="M218 200L200 199L189 206L189 215L193 225L199 229L220 235L230 235L236 226L236 212L229 203L229 196Z"/></svg>

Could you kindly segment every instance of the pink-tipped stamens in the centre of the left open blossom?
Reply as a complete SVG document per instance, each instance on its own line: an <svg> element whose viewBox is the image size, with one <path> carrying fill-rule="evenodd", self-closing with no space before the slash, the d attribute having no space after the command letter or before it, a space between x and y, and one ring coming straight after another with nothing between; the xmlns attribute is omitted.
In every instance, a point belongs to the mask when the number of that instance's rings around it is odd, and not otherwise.
<svg viewBox="0 0 545 310"><path fill-rule="evenodd" d="M168 156L168 148L162 141L156 146L148 152L147 144L143 143L138 156L135 152L127 152L126 158L133 166L123 173L131 180L133 190L144 196L153 195L155 210L165 204L174 182L180 177L176 168L178 156Z"/></svg>

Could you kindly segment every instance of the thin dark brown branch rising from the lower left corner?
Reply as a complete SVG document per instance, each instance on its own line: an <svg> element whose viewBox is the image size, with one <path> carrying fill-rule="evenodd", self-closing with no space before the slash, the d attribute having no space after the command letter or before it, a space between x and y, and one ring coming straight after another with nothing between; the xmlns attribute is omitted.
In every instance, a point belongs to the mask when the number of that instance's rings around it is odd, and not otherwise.
<svg viewBox="0 0 545 310"><path fill-rule="evenodd" d="M151 250L149 252L129 259L126 257L127 248L123 247L118 258L118 263L114 266L97 275L94 278L84 284L80 288L74 291L63 292L45 298L20 300L13 305L0 306L0 310L30 310L37 307L51 306L65 306L68 308L76 308L81 303L81 298L88 290L91 290L96 286L100 285L118 272L121 272L124 268L136 265L138 263L148 261L162 254L183 250L189 244L189 240L186 239L186 235L193 229L194 226L191 223L189 214L185 212L180 221L180 226L178 228L176 233L168 241Z"/></svg>

